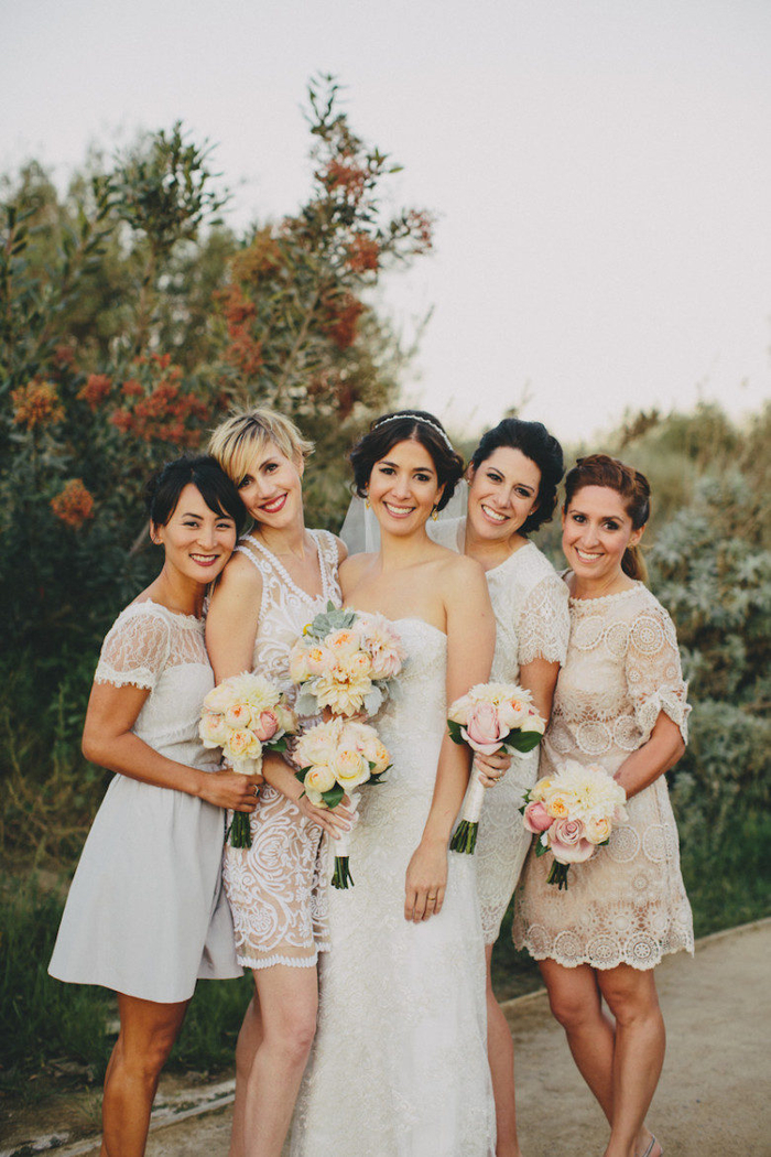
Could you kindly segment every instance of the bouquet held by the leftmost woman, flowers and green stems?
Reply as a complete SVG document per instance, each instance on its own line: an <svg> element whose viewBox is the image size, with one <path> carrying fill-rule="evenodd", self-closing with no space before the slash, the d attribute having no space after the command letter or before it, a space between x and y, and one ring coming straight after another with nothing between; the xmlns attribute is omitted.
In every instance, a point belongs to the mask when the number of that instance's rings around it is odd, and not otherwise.
<svg viewBox="0 0 771 1157"><path fill-rule="evenodd" d="M297 716L287 697L262 675L233 675L203 700L198 734L205 747L222 747L235 772L253 775L262 765L262 750L286 751L284 736L297 731ZM233 848L251 848L249 815L233 812Z"/></svg>

